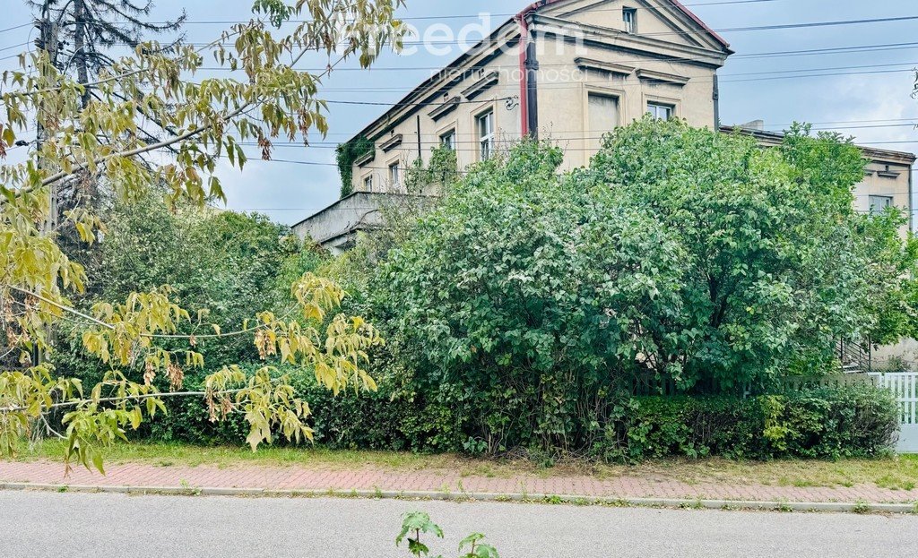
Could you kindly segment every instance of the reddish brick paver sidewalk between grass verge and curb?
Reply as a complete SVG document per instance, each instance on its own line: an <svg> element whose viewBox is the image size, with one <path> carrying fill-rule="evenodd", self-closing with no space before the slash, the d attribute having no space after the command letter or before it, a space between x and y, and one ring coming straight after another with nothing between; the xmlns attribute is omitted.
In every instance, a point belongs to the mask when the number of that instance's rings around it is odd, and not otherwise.
<svg viewBox="0 0 918 558"><path fill-rule="evenodd" d="M450 493L452 495L556 495L607 498L684 498L768 502L918 502L918 489L890 490L876 485L851 487L794 487L777 485L688 484L672 480L619 476L536 476L510 478L462 475L458 471L397 471L380 468L322 469L300 466L220 469L215 466L154 466L121 464L108 467L106 476L74 469L63 476L62 463L0 462L0 483L91 485L161 488L251 488L302 491L375 491Z"/></svg>

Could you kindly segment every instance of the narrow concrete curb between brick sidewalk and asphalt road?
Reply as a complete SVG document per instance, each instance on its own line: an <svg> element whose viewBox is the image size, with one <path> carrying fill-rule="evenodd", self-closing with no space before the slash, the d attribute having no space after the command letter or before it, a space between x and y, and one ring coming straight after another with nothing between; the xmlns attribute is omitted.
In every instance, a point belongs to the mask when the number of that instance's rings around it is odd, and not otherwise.
<svg viewBox="0 0 918 558"><path fill-rule="evenodd" d="M689 498L578 497L548 494L493 494L487 492L429 492L423 490L280 490L196 486L104 486L0 483L0 490L45 492L89 492L131 495L211 496L211 497L353 497L453 502L527 502L575 506L617 506L621 508L697 508L745 509L765 511L804 511L835 513L916 514L914 504L870 504L866 502L772 502L755 500L706 500Z"/></svg>

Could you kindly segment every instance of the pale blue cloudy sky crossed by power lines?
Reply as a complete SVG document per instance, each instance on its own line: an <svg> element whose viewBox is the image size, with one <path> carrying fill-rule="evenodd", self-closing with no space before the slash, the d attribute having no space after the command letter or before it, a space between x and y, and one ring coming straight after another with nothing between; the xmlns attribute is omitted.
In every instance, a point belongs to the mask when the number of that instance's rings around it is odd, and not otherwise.
<svg viewBox="0 0 918 558"><path fill-rule="evenodd" d="M15 60L4 58L26 50L35 38L33 28L2 29L28 23L24 0L2 0L0 70ZM400 15L422 30L445 25L458 32L470 24L496 28L531 0L407 0ZM895 151L918 152L918 100L912 98L918 67L918 20L869 23L824 28L759 31L729 29L804 22L918 16L915 0L766 0L724 3L725 0L683 0L709 27L721 32L736 55L720 71L721 118L724 124L756 119L766 129L781 130L793 121L815 123L856 137L858 142ZM154 0L151 19L174 17L184 9L191 42L210 41L230 21L251 18L252 0ZM718 5L720 4L720 5ZM487 14L492 14L488 17ZM484 15L484 16L482 16ZM470 39L477 39L473 33ZM474 40L472 41L474 42ZM805 56L744 56L775 51L835 49L867 45L897 45L883 50L846 51ZM453 61L459 45L442 53L418 51L409 55L386 53L376 70L338 72L320 91L326 99L395 103L431 73ZM303 65L308 65L306 61ZM322 65L320 61L312 63ZM353 67L353 66L352 66ZM330 105L330 134L338 143L386 111L386 106ZM854 121L854 122L853 122ZM243 172L219 171L230 209L258 211L274 220L293 224L338 198L341 180L330 145L278 147L275 159L319 163L261 162L252 151L252 163Z"/></svg>

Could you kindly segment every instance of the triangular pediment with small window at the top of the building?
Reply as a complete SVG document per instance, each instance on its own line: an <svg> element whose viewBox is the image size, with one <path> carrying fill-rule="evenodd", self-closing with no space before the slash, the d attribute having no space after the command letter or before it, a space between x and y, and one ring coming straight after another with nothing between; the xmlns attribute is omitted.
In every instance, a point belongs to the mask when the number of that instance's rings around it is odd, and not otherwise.
<svg viewBox="0 0 918 558"><path fill-rule="evenodd" d="M635 35L681 46L726 50L710 28L672 0L558 0L539 13L596 28L626 32L625 11L636 17Z"/></svg>

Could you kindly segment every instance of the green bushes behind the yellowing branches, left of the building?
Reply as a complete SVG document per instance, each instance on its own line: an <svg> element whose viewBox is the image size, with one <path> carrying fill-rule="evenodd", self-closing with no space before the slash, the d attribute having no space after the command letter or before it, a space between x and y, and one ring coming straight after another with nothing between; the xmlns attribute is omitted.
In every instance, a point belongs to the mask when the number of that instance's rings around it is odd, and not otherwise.
<svg viewBox="0 0 918 558"><path fill-rule="evenodd" d="M96 302L123 301L134 291L170 285L173 299L192 314L191 323L179 326L186 334L212 334L209 324L222 331L243 329L246 320L253 322L265 310L284 317L294 307L291 285L327 259L289 227L263 215L187 206L172 210L156 195L116 203L106 223L105 239L84 256L94 282L77 305L85 310ZM198 312L203 326L197 323ZM73 322L62 323L54 363L58 374L95 385L107 368L84 353L80 331ZM164 346L182 350L187 342L166 341ZM213 370L259 360L250 336L202 337L195 350ZM123 372L140 380L142 359Z"/></svg>

